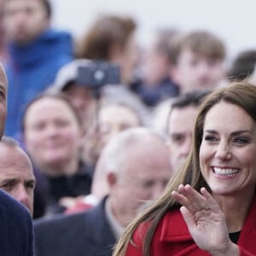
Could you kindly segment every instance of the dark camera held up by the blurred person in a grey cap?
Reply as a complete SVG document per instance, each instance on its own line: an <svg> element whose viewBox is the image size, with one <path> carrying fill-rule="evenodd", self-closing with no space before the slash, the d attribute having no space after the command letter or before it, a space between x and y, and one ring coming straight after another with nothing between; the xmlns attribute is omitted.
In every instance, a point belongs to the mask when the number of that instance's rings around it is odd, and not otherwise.
<svg viewBox="0 0 256 256"><path fill-rule="evenodd" d="M78 67L77 83L89 88L100 89L104 84L120 83L120 68L106 61L91 61L87 66Z"/></svg>

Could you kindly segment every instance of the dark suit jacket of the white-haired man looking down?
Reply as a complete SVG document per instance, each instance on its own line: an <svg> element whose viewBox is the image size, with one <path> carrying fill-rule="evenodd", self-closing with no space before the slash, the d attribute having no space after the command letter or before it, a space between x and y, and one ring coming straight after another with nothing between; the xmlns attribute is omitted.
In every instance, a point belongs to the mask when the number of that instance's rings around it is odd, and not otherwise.
<svg viewBox="0 0 256 256"><path fill-rule="evenodd" d="M111 256L116 241L105 214L106 198L88 212L34 222L37 256Z"/></svg>

